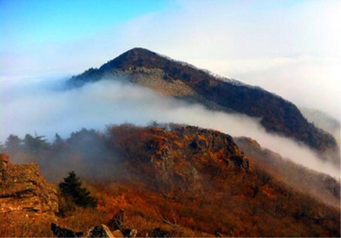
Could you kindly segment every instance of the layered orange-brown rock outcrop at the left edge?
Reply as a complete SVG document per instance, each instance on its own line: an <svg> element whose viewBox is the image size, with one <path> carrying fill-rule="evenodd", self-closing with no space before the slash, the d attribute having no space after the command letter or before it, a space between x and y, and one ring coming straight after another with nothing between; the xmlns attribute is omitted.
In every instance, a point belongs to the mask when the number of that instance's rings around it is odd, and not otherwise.
<svg viewBox="0 0 341 238"><path fill-rule="evenodd" d="M54 214L57 210L57 191L38 165L14 165L6 154L0 154L0 214Z"/></svg>

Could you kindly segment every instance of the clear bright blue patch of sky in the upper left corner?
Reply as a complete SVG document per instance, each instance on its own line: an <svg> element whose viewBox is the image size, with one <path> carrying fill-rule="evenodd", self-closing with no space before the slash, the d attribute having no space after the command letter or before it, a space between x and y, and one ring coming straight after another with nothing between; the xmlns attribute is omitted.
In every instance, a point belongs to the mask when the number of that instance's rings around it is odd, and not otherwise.
<svg viewBox="0 0 341 238"><path fill-rule="evenodd" d="M174 4L158 0L1 0L0 40L19 49L46 41L65 42L165 7Z"/></svg>

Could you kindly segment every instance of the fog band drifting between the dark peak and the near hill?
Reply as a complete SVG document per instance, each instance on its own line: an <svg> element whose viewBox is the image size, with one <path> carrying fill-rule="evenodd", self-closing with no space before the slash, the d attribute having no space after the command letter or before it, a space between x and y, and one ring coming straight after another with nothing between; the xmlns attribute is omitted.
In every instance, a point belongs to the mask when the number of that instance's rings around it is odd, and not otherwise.
<svg viewBox="0 0 341 238"><path fill-rule="evenodd" d="M54 82L55 85L55 82ZM2 89L1 89L2 90ZM80 128L103 129L108 124L147 125L158 122L186 123L213 128L231 136L247 136L263 147L295 163L340 178L340 169L323 163L317 154L297 142L267 133L259 120L241 114L210 111L200 105L164 97L152 90L119 79L87 84L62 91L51 85L32 85L23 90L12 85L1 92L0 140L12 133L52 138L56 132L68 137Z"/></svg>

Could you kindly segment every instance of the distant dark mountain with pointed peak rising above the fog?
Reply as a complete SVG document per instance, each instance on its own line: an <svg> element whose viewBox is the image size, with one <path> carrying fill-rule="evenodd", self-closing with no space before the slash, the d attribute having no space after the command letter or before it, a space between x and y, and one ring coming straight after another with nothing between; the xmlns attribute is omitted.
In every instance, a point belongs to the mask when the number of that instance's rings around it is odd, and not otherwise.
<svg viewBox="0 0 341 238"><path fill-rule="evenodd" d="M186 63L171 60L149 50L134 48L98 69L73 76L71 86L102 78L126 78L141 86L212 110L236 111L261 119L268 130L302 141L319 151L335 150L335 139L309 123L297 107L259 87L215 77Z"/></svg>

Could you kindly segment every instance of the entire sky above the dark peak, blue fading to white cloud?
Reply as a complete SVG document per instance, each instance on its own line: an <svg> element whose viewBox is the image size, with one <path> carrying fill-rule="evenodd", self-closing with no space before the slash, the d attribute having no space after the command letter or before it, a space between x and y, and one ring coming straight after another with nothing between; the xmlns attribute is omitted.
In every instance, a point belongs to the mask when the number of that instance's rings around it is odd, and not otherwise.
<svg viewBox="0 0 341 238"><path fill-rule="evenodd" d="M340 118L340 24L340 0L0 0L0 90L145 47Z"/></svg>

